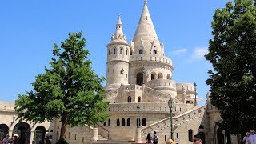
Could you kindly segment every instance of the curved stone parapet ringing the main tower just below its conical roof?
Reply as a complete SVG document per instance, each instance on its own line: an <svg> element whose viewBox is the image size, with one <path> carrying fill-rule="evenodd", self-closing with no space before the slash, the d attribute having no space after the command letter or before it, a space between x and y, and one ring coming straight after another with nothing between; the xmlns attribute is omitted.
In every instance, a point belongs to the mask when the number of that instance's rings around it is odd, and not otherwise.
<svg viewBox="0 0 256 144"><path fill-rule="evenodd" d="M134 61L154 61L154 62L162 62L173 65L173 62L170 58L166 56L154 55L154 54L135 54L130 55L130 62Z"/></svg>

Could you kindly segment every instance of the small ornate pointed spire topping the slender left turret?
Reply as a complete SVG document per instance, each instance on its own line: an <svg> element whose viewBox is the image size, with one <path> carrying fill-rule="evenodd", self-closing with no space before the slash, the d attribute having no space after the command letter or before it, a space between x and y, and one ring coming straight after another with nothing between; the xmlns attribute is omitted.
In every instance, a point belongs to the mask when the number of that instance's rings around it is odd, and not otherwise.
<svg viewBox="0 0 256 144"><path fill-rule="evenodd" d="M121 16L118 15L115 33L111 37L111 42L126 42L126 35L122 32ZM126 42L127 43L127 42Z"/></svg>

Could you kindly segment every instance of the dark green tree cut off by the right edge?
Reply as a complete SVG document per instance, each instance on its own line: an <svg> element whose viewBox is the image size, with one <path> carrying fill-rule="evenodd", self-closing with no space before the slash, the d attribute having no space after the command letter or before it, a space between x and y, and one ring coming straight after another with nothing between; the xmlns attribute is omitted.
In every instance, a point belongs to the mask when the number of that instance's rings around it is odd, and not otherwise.
<svg viewBox="0 0 256 144"><path fill-rule="evenodd" d="M215 11L206 59L213 65L206 83L220 110L220 126L238 134L256 124L256 6L234 0Z"/></svg>

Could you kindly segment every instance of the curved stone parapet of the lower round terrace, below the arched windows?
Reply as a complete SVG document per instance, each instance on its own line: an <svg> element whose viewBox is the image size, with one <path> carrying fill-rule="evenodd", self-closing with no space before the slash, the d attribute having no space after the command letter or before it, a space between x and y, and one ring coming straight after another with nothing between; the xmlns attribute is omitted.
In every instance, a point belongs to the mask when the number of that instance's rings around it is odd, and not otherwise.
<svg viewBox="0 0 256 144"><path fill-rule="evenodd" d="M154 79L146 82L146 86L149 86L153 89L156 89L158 87L168 87L169 89L176 90L176 84L171 79Z"/></svg>

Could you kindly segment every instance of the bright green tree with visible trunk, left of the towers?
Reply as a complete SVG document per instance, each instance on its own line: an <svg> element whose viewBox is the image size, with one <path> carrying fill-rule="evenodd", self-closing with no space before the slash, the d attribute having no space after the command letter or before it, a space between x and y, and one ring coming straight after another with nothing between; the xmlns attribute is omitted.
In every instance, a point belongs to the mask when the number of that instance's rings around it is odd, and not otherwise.
<svg viewBox="0 0 256 144"><path fill-rule="evenodd" d="M67 125L94 125L107 118L104 78L92 70L85 45L82 33L69 34L60 47L54 44L50 68L36 77L33 90L19 94L15 101L18 118L31 122L52 122L59 118L62 122L60 141Z"/></svg>

